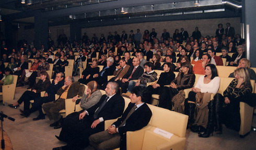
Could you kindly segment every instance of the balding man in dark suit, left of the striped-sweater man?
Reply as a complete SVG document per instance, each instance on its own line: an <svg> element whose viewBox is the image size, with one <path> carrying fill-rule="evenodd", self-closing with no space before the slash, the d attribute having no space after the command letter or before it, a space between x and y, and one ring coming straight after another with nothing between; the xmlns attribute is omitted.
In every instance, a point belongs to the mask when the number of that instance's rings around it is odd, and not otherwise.
<svg viewBox="0 0 256 150"><path fill-rule="evenodd" d="M137 80L143 74L143 72L144 72L144 69L139 65L139 59L134 58L133 66L129 68L127 73L123 76L122 80L118 81L122 89L122 93L126 93L129 82L131 80Z"/></svg>

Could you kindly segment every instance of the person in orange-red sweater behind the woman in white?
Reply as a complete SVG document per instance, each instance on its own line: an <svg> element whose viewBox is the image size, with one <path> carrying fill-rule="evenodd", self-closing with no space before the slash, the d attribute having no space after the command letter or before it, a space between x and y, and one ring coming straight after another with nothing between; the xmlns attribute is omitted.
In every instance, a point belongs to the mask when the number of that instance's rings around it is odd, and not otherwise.
<svg viewBox="0 0 256 150"><path fill-rule="evenodd" d="M202 59L195 62L195 65L193 66L193 72L194 74L201 74L204 75L204 69L207 64L211 62L212 57L210 54L206 53L203 54Z"/></svg>

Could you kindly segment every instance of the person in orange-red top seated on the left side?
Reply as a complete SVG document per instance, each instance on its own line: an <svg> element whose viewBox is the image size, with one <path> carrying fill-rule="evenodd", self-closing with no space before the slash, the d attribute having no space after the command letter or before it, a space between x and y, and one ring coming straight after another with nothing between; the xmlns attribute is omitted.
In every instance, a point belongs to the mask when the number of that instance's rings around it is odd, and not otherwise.
<svg viewBox="0 0 256 150"><path fill-rule="evenodd" d="M32 63L32 66L30 67L29 70L23 70L21 73L21 77L17 81L18 85L17 86L24 86L24 80L25 77L30 77L30 75L34 72L37 71L38 66L41 64L39 57L34 58L34 62Z"/></svg>

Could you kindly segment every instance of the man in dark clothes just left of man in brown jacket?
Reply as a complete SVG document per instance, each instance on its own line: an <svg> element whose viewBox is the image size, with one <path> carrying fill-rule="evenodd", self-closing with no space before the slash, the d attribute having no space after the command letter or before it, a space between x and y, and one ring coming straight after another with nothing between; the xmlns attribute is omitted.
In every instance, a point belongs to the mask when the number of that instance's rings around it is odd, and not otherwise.
<svg viewBox="0 0 256 150"><path fill-rule="evenodd" d="M65 76L62 72L57 73L50 87L46 89L44 96L34 99L34 103L32 103L32 107L30 108L29 111L35 112L38 110L39 116L36 118L33 118L33 121L45 119L42 111L42 104L55 101L55 94L64 85L64 78Z"/></svg>

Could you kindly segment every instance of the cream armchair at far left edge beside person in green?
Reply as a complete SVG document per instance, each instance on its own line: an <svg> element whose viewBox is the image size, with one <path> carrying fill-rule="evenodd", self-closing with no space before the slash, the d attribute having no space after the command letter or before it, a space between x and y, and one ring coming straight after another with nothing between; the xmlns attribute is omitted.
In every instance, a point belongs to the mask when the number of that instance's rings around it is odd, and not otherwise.
<svg viewBox="0 0 256 150"><path fill-rule="evenodd" d="M5 103L12 103L14 100L14 95L15 95L15 89L16 89L16 84L17 84L17 75L13 75L13 84L10 85L3 85L2 90L3 92L0 92L0 96L3 96L3 104Z"/></svg>

